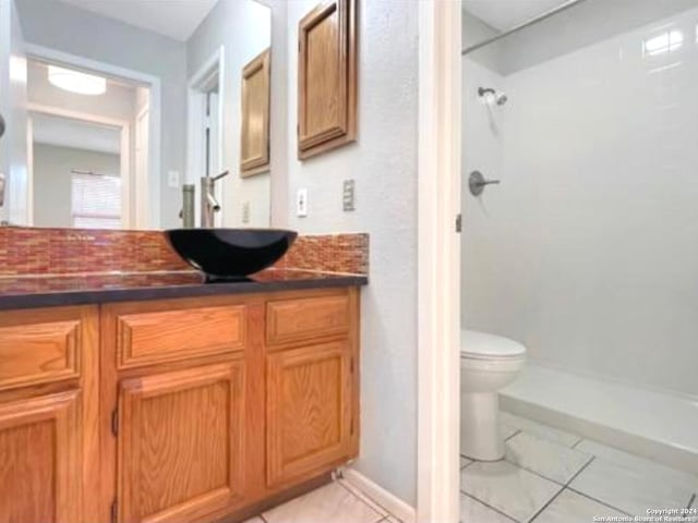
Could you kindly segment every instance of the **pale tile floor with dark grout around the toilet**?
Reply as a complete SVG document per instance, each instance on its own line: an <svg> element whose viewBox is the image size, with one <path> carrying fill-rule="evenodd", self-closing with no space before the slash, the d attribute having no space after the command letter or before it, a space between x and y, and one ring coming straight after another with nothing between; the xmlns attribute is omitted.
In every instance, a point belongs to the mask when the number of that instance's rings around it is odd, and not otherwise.
<svg viewBox="0 0 698 523"><path fill-rule="evenodd" d="M698 508L698 476L512 414L502 413L502 426L504 460L460 457L462 523L588 523Z"/></svg>

